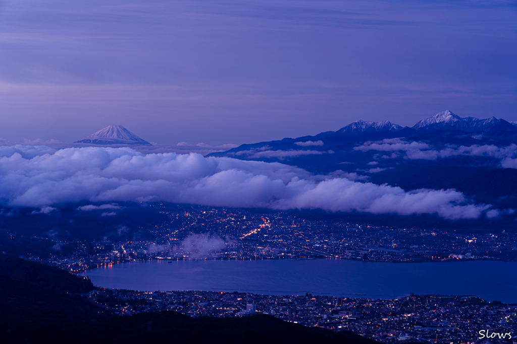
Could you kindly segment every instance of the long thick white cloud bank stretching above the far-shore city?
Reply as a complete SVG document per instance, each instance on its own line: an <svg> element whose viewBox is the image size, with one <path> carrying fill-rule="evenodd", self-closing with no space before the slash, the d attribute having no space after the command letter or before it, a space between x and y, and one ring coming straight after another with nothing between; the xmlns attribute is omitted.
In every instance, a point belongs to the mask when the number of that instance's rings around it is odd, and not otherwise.
<svg viewBox="0 0 517 344"><path fill-rule="evenodd" d="M320 208L373 214L437 214L446 219L478 218L491 207L467 204L464 195L455 190L406 192L399 187L353 181L345 173L312 175L279 162L195 153L144 155L130 148L53 151L42 146L0 147L1 203L44 207L79 201Z"/></svg>

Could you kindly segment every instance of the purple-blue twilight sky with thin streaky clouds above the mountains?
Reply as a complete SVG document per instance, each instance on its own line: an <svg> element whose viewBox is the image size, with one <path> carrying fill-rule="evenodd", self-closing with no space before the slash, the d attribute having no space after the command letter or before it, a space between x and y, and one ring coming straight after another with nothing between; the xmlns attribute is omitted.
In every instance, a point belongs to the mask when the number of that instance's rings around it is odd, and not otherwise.
<svg viewBox="0 0 517 344"><path fill-rule="evenodd" d="M164 145L517 120L516 1L0 0L0 138Z"/></svg>

